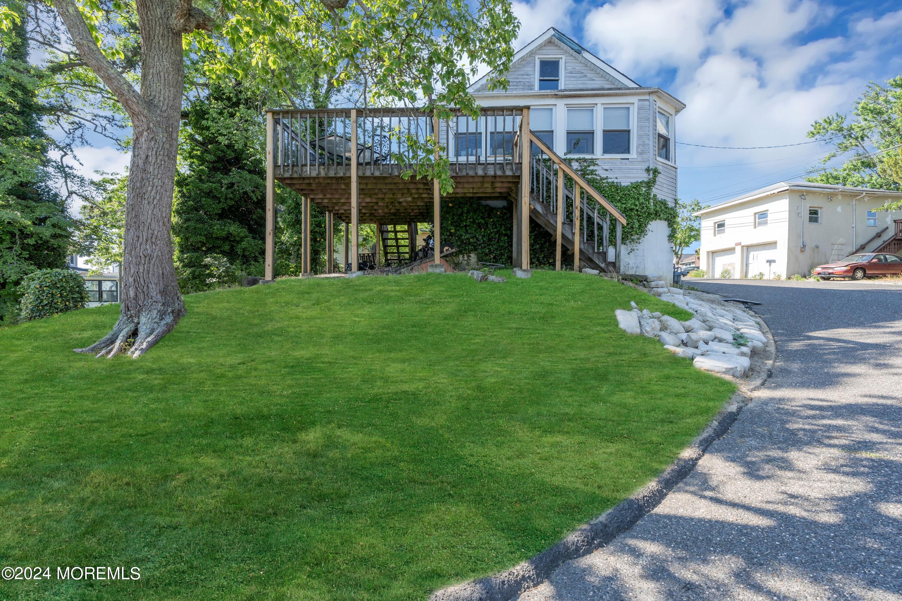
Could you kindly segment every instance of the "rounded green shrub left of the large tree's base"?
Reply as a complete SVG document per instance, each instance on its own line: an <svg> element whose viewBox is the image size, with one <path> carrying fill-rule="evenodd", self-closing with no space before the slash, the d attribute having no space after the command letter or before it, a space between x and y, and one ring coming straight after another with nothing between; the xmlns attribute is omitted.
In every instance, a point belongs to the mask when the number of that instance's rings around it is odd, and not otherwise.
<svg viewBox="0 0 902 601"><path fill-rule="evenodd" d="M80 309L87 303L85 280L71 269L35 271L23 278L19 289L24 321Z"/></svg>

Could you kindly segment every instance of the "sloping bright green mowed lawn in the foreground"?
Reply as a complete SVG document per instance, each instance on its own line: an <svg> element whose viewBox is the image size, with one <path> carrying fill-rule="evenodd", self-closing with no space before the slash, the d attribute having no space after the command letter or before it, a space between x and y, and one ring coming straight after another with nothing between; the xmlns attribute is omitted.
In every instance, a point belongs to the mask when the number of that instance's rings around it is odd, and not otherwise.
<svg viewBox="0 0 902 601"><path fill-rule="evenodd" d="M509 274L510 275L510 274ZM628 336L583 274L290 279L186 296L140 360L118 306L0 331L0 599L416 599L654 478L733 387Z"/></svg>

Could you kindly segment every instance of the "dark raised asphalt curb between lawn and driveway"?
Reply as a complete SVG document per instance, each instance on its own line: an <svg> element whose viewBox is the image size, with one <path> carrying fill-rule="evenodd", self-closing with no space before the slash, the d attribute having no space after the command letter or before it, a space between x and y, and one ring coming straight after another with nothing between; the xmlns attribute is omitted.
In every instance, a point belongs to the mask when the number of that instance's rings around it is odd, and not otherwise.
<svg viewBox="0 0 902 601"><path fill-rule="evenodd" d="M428 601L511 601L530 588L538 587L564 562L598 551L651 513L695 469L711 443L730 430L742 409L749 404L749 393L763 386L770 377L777 359L777 347L767 323L757 314L754 317L763 324L761 332L768 338L762 373L752 381L729 378L740 384L740 390L658 478L532 559L492 576L441 588L432 593Z"/></svg>

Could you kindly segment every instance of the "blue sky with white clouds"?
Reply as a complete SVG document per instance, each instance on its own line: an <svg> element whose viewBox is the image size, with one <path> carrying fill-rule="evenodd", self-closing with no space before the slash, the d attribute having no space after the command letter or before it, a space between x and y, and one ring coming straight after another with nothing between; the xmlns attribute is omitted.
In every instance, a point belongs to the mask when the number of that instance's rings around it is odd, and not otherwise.
<svg viewBox="0 0 902 601"><path fill-rule="evenodd" d="M641 85L685 102L678 142L805 142L815 119L849 113L868 81L902 75L899 0L529 0L514 10L519 45L553 25ZM96 144L79 152L86 173L124 169L127 155L102 138ZM801 178L824 152L817 143L681 144L679 196L723 202Z"/></svg>

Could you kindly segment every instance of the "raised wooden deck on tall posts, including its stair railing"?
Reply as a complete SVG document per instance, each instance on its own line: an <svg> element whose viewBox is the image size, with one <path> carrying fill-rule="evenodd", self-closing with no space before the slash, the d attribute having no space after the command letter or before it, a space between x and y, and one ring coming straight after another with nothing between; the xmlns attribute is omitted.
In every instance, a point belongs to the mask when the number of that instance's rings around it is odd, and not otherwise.
<svg viewBox="0 0 902 601"><path fill-rule="evenodd" d="M625 223L619 211L529 131L528 107L483 108L476 119L457 114L447 121L408 109L274 109L266 115L267 279L274 277L276 181L305 199L304 273L310 270L309 203L327 212L328 231L334 231L335 219L349 226L354 270L358 267L360 223L375 223L380 229L385 225L433 223L435 245L441 248L441 196L437 181L415 175L401 177L413 170L417 152L434 148L436 139L439 150L434 158L446 161L455 182L454 191L446 199L511 201L511 250L516 267L529 268L530 211L537 203L548 205L546 213L550 216L546 221L552 217L557 220L552 232L557 238L557 269L561 265L562 237L582 239L570 244L575 269L579 269L580 250L590 236L594 236L593 255L608 256L610 215L614 214L618 234L620 224ZM530 159L529 152L524 151L528 147L538 152L539 162L537 155ZM575 189L565 187L564 178L578 182ZM547 185L552 187L548 194ZM555 193L555 189L560 192ZM581 213L586 217L582 224ZM607 221L603 221L604 214ZM574 223L564 227L562 223L567 223L568 215ZM594 233L590 233L590 225ZM603 248L599 246L599 232ZM619 247L618 235L618 260ZM327 269L331 269L331 252L328 255ZM438 257L435 262L439 262Z"/></svg>

